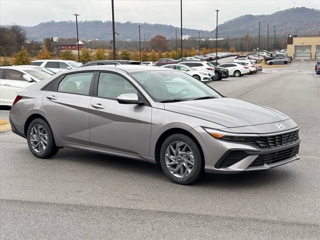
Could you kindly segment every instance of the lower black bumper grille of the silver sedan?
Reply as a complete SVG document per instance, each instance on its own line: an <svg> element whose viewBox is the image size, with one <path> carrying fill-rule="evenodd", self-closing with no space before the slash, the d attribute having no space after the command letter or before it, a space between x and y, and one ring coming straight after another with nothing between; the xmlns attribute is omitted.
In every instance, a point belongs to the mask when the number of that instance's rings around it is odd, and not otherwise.
<svg viewBox="0 0 320 240"><path fill-rule="evenodd" d="M299 146L294 146L284 150L262 154L262 155L259 155L257 158L255 158L254 161L252 161L252 163L249 166L260 166L263 164L270 164L270 163L282 161L294 156L298 152L299 152Z"/></svg>

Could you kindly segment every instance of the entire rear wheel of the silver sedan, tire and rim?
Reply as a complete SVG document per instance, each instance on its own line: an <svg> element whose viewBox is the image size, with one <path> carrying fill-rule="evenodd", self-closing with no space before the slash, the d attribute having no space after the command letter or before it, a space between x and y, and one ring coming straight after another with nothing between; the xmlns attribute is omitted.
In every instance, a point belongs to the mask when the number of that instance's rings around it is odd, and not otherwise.
<svg viewBox="0 0 320 240"><path fill-rule="evenodd" d="M39 158L54 156L59 148L56 147L49 124L42 118L31 121L26 135L28 147L33 155Z"/></svg>

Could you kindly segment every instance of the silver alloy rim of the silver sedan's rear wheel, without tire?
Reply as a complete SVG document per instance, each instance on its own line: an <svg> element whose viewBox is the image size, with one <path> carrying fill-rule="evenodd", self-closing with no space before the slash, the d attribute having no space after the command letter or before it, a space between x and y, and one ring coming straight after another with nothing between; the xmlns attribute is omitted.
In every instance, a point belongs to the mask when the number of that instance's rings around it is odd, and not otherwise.
<svg viewBox="0 0 320 240"><path fill-rule="evenodd" d="M38 153L43 152L48 144L47 133L41 124L32 126L29 139L33 150Z"/></svg>

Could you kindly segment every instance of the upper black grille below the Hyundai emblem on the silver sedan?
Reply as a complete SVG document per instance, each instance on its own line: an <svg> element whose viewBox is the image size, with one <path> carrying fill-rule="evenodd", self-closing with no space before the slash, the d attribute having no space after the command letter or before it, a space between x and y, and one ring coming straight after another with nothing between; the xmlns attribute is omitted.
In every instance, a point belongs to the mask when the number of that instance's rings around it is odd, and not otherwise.
<svg viewBox="0 0 320 240"><path fill-rule="evenodd" d="M299 139L299 130L291 131L273 136L260 136L254 138L249 143L260 147L262 149L273 148L277 146L283 146Z"/></svg>

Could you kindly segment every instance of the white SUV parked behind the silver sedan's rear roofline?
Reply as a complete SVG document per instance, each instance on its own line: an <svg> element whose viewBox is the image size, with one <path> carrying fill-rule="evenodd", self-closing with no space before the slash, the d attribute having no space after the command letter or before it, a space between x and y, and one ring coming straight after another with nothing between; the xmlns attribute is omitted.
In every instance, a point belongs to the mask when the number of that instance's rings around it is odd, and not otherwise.
<svg viewBox="0 0 320 240"><path fill-rule="evenodd" d="M81 63L71 60L35 60L31 65L42 66L54 72L62 72L81 66Z"/></svg>

